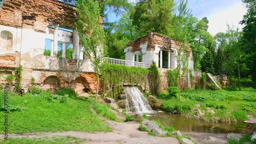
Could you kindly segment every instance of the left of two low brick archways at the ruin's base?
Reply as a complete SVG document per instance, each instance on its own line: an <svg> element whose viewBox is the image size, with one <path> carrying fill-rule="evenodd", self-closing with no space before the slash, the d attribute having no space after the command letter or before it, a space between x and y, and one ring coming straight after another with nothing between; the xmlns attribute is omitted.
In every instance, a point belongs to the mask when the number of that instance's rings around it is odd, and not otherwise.
<svg viewBox="0 0 256 144"><path fill-rule="evenodd" d="M59 85L60 80L56 76L49 76L44 80L44 85L42 86L43 89L49 89L52 93L55 93L56 90L60 87Z"/></svg>

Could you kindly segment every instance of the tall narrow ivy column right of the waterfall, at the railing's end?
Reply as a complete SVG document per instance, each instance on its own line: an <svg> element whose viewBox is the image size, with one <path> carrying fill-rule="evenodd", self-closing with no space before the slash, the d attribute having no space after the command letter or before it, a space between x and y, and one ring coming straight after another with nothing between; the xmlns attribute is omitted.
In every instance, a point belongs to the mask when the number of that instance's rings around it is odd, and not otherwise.
<svg viewBox="0 0 256 144"><path fill-rule="evenodd" d="M161 79L156 63L153 62L150 68L148 68L148 70L150 70L148 75L148 78L150 79L148 84L150 86L150 91L154 95L158 95Z"/></svg>

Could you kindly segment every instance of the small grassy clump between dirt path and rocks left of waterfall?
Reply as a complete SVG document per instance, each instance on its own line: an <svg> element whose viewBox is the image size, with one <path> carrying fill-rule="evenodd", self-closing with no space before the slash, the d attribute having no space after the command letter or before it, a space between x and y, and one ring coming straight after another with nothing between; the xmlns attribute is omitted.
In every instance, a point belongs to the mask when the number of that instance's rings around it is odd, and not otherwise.
<svg viewBox="0 0 256 144"><path fill-rule="evenodd" d="M102 114L104 117L111 119L113 121L119 122L120 120L116 117L115 113L109 110L109 106L96 102L93 104L93 109L98 113Z"/></svg>

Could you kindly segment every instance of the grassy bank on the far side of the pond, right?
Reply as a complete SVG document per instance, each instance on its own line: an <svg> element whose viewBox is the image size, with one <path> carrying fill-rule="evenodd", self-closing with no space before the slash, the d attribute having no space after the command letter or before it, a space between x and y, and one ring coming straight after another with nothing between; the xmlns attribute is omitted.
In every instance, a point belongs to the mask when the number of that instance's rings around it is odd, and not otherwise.
<svg viewBox="0 0 256 144"><path fill-rule="evenodd" d="M256 117L255 102L256 90L253 88L241 91L184 90L181 91L181 101L175 98L164 100L163 108L200 121L230 123L244 121L248 114Z"/></svg>

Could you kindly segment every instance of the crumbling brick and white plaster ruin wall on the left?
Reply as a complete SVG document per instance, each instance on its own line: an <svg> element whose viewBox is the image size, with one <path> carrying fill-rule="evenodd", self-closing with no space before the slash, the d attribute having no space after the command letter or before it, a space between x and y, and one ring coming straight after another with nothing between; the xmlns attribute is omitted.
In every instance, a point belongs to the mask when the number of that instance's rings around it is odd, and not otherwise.
<svg viewBox="0 0 256 144"><path fill-rule="evenodd" d="M5 83L8 75L14 75L20 64L25 90L34 77L35 84L44 89L74 87L78 93L96 91L90 61L44 56L45 39L53 37L53 29L48 26L57 23L75 30L75 18L75 7L57 0L5 0L0 8L0 84ZM102 17L100 24L103 27ZM72 33L58 31L58 40L69 35L69 41L74 41Z"/></svg>

